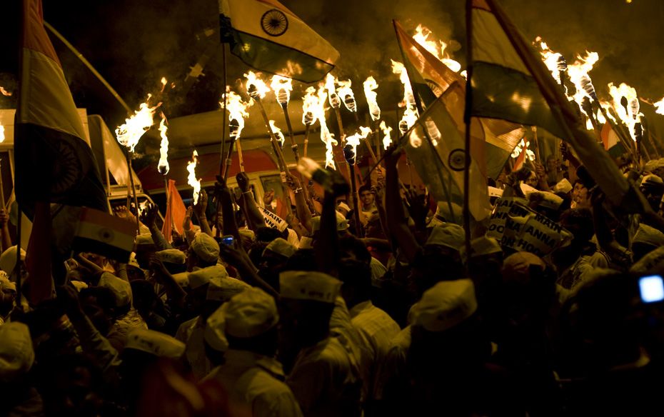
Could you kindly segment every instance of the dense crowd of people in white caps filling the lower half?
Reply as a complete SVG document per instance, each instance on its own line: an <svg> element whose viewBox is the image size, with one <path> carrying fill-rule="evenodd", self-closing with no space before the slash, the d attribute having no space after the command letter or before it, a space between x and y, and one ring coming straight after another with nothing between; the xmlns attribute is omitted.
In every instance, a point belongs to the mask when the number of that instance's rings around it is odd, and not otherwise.
<svg viewBox="0 0 664 417"><path fill-rule="evenodd" d="M664 273L664 164L626 167L637 214L571 154L569 171L505 172L500 201L566 236L538 256L491 216L466 225L468 251L451 205L401 184L401 156L386 151L358 207L337 172L322 189L286 174L287 227L266 226L244 173L238 192L201 192L182 236L148 206L128 262L74 253L36 305L3 233L0 415L661 413L664 314L639 278Z"/></svg>

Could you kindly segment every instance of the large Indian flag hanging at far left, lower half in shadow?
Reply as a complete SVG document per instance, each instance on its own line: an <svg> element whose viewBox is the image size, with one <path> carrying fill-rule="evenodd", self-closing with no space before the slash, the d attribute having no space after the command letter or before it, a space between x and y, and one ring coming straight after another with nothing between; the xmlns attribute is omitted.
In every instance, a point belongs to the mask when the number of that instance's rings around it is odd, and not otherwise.
<svg viewBox="0 0 664 417"><path fill-rule="evenodd" d="M44 29L41 0L24 0L14 152L16 200L106 210L106 192L62 66Z"/></svg>

